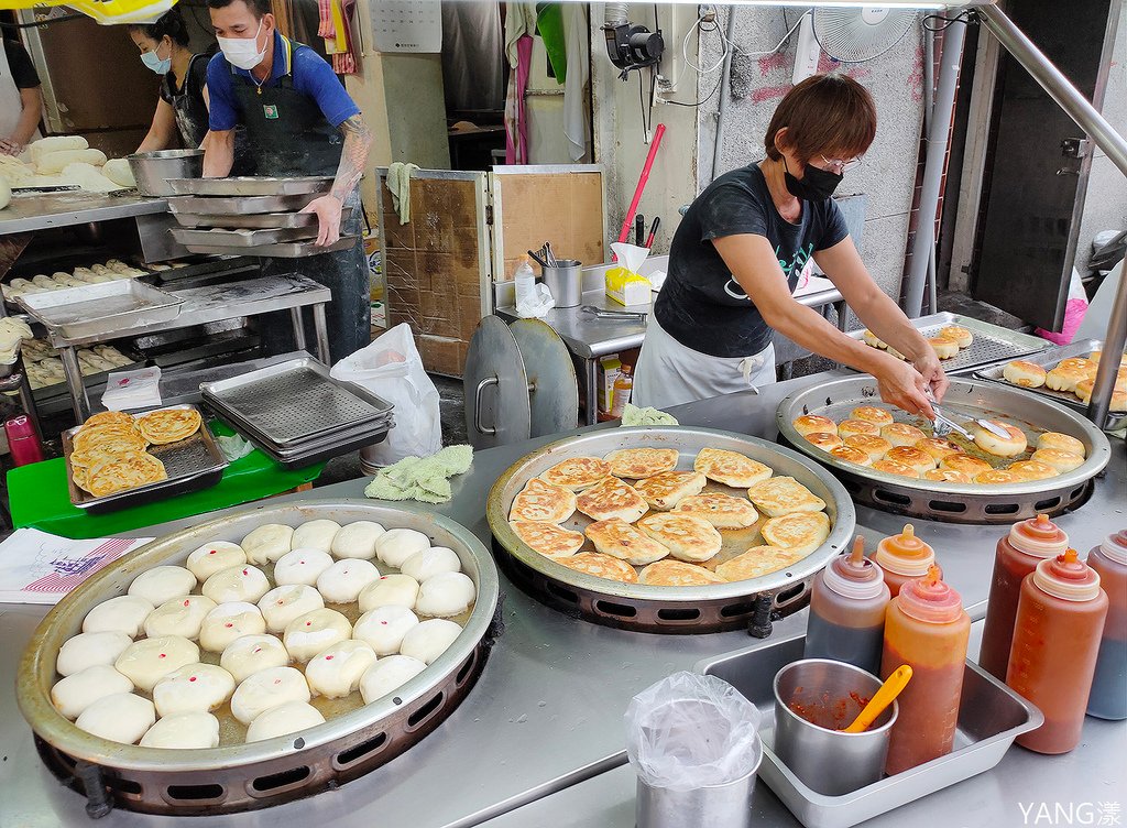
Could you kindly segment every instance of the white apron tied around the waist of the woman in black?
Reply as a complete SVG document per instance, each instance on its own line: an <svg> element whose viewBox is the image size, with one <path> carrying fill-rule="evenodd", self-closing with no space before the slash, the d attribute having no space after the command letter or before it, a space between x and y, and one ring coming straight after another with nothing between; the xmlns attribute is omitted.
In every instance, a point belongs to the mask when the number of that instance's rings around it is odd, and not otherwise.
<svg viewBox="0 0 1127 828"><path fill-rule="evenodd" d="M751 356L709 356L682 345L650 316L631 402L668 408L725 394L757 391L775 381L774 369L773 344Z"/></svg>

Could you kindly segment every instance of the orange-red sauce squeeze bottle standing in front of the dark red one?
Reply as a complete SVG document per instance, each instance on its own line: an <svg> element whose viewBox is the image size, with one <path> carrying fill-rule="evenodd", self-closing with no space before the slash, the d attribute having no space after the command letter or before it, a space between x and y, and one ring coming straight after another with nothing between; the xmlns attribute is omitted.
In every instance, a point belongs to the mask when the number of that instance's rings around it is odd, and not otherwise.
<svg viewBox="0 0 1127 828"><path fill-rule="evenodd" d="M1066 754L1080 742L1107 615L1100 576L1075 549L1026 575L1005 682L1040 707L1045 723L1018 745Z"/></svg>

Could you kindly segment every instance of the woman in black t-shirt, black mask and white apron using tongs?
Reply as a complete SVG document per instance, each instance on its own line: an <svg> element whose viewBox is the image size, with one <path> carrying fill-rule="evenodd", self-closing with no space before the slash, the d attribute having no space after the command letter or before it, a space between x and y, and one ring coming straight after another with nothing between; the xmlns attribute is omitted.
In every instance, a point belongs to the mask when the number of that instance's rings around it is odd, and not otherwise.
<svg viewBox="0 0 1127 828"><path fill-rule="evenodd" d="M873 282L831 200L877 130L857 81L822 74L779 104L766 158L717 178L689 208L669 250L633 380L638 405L668 407L774 381L772 331L871 373L881 398L933 417L939 358ZM850 338L791 296L814 259L862 323L908 362Z"/></svg>

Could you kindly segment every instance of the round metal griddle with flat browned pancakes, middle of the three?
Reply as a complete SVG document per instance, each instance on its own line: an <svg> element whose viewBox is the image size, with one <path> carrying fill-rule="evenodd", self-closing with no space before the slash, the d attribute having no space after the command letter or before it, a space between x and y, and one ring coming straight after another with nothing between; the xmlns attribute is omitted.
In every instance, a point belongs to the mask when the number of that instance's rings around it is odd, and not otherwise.
<svg viewBox="0 0 1127 828"><path fill-rule="evenodd" d="M681 452L677 468L681 469L691 469L693 459L703 448L738 451L766 464L777 475L793 477L826 502L829 537L801 561L754 580L707 587L648 587L570 570L533 550L513 531L508 523L513 499L533 477L569 457L605 457L615 449L646 447L677 449ZM744 490L711 483L708 491L746 496ZM829 558L846 548L855 526L849 493L817 464L754 437L682 426L606 429L550 443L521 458L497 478L489 492L486 517L500 565L515 583L538 600L596 624L637 632L680 634L747 627L758 609L757 605L763 601L774 617L800 609L806 605L814 575ZM564 527L583 531L591 522L576 512ZM725 546L730 548L738 544L740 549L747 549L762 544L758 535L762 522L752 529L721 531ZM584 548L592 548L589 541Z"/></svg>

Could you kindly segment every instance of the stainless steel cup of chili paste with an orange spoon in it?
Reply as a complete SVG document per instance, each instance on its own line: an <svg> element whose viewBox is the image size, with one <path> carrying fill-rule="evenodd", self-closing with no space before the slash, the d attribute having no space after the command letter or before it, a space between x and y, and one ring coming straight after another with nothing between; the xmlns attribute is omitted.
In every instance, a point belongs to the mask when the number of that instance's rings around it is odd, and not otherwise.
<svg viewBox="0 0 1127 828"><path fill-rule="evenodd" d="M863 707L849 702L870 699L879 689L880 679L842 661L802 659L787 664L774 680L775 756L810 790L827 796L879 782L899 710L896 702L863 733L842 732ZM796 704L817 723L798 715ZM837 705L843 721L834 720Z"/></svg>

